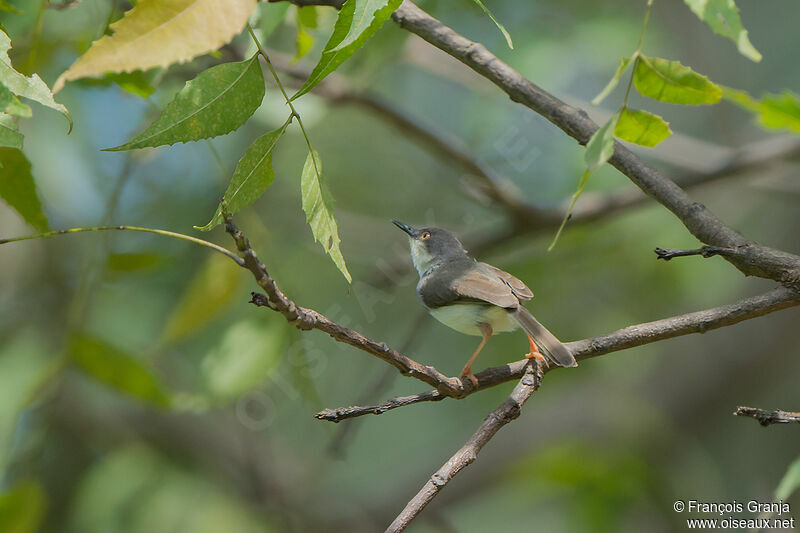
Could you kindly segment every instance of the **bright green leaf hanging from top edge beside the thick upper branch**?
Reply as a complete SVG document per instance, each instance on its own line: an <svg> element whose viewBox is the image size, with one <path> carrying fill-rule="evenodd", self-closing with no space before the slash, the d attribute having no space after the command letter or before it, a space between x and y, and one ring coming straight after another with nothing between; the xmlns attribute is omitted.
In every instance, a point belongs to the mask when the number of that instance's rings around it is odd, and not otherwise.
<svg viewBox="0 0 800 533"><path fill-rule="evenodd" d="M383 26L383 23L386 22L398 7L400 7L401 3L403 3L403 0L385 1L384 7L375 11L366 29L362 31L352 43L339 49L339 45L350 33L355 15L356 0L347 0L339 11L339 17L336 19L336 24L333 26L333 33L330 39L328 39L325 48L322 50L322 57L320 57L319 63L317 63L317 66L311 71L311 75L303 86L292 96L292 100L306 94L316 87L325 76L339 68L339 65L349 59L356 50L361 48L364 43Z"/></svg>

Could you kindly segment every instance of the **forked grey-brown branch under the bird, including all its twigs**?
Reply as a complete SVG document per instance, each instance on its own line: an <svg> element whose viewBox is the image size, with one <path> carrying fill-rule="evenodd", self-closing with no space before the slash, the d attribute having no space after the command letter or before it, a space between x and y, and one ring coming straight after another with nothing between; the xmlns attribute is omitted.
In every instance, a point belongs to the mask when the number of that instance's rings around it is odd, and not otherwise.
<svg viewBox="0 0 800 533"><path fill-rule="evenodd" d="M225 229L231 235L236 248L242 256L239 263L248 269L262 293L252 293L251 302L257 306L267 307L281 313L286 320L301 330L317 329L330 335L334 340L349 344L369 353L397 368L403 375L413 377L433 387L411 396L391 398L383 403L371 406L350 406L337 409L324 409L315 415L318 420L340 422L348 418L366 414L383 414L398 407L420 402L441 401L445 398L465 398L479 390L493 387L518 379L511 395L497 409L492 411L467 443L462 446L422 487L405 509L389 526L387 532L403 531L422 509L438 494L438 492L462 469L471 464L483 446L500 430L501 427L516 419L522 406L541 384L542 377L548 371L557 368L542 368L535 359L523 359L499 367L487 368L475 375L477 384L470 380L448 377L432 366L422 365L410 357L389 348L384 342L377 342L361 333L334 322L321 313L301 307L289 299L269 275L244 234L233 223L229 214L225 214ZM680 255L703 255L703 249L689 251L672 251L672 257ZM690 253L691 252L691 253ZM713 254L712 254L713 252ZM727 250L726 250L727 252ZM719 250L706 250L714 255ZM669 254L667 254L669 255ZM710 255L709 255L710 256ZM624 350L642 344L686 335L702 333L709 329L719 328L742 320L747 320L767 313L800 304L800 292L791 287L779 287L766 294L745 298L734 304L679 315L646 324L637 324L621 330L566 344L577 360Z"/></svg>

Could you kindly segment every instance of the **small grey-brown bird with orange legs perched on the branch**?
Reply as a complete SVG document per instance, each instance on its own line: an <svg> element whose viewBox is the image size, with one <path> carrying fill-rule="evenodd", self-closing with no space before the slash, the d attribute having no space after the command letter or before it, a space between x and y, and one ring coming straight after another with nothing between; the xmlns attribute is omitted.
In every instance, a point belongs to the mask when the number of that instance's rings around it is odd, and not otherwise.
<svg viewBox="0 0 800 533"><path fill-rule="evenodd" d="M393 222L408 234L411 259L419 273L417 295L423 305L442 324L460 333L483 337L464 365L461 377L477 385L472 363L489 337L517 326L528 334L531 351L526 357L536 357L546 364L578 366L567 347L523 307L522 302L533 298L533 293L519 279L471 258L449 231Z"/></svg>

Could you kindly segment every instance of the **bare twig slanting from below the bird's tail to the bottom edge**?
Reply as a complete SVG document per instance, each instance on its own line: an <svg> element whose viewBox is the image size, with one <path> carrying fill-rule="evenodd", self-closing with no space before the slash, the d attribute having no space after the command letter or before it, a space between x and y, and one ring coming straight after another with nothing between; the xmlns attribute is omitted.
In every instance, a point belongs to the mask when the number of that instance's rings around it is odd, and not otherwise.
<svg viewBox="0 0 800 533"><path fill-rule="evenodd" d="M450 482L461 470L475 461L478 452L486 445L500 428L519 416L522 406L539 388L542 382L542 371L539 362L531 359L525 364L522 378L514 387L511 395L497 409L489 413L483 424L470 439L442 467L425 482L422 489L397 515L394 522L386 529L386 533L403 531L408 524L425 508L428 503Z"/></svg>

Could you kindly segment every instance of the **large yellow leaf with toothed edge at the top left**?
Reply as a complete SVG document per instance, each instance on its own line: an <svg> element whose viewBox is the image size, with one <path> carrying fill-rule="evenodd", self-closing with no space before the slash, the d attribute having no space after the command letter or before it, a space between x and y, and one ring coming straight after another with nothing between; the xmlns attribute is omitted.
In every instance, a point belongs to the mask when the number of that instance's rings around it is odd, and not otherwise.
<svg viewBox="0 0 800 533"><path fill-rule="evenodd" d="M91 48L56 80L132 72L183 63L230 42L247 24L256 0L140 0L111 25L113 35Z"/></svg>

